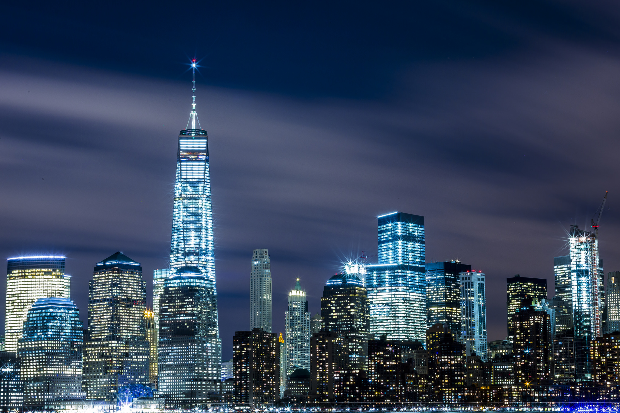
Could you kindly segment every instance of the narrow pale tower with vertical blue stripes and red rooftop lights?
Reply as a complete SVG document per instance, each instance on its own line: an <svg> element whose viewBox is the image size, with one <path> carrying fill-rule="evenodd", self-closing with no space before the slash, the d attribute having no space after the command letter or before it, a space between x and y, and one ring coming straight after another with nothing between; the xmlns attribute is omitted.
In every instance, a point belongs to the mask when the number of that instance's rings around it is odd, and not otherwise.
<svg viewBox="0 0 620 413"><path fill-rule="evenodd" d="M482 272L461 272L461 342L465 354L487 361L487 299Z"/></svg>

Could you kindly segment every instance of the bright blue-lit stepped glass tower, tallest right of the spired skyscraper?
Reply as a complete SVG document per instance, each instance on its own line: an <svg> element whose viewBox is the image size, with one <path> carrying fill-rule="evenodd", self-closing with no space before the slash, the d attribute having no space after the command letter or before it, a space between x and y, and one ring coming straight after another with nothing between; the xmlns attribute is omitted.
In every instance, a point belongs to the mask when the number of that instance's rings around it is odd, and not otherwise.
<svg viewBox="0 0 620 413"><path fill-rule="evenodd" d="M379 264L366 266L370 333L423 343L427 305L424 217L392 212L377 220Z"/></svg>

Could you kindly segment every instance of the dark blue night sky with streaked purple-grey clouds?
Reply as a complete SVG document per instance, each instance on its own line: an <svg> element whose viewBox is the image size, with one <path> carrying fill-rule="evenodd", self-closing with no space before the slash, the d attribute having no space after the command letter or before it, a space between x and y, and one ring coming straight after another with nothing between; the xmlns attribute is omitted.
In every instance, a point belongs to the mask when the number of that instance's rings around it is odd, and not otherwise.
<svg viewBox="0 0 620 413"><path fill-rule="evenodd" d="M319 311L392 211L425 217L427 261L487 274L489 340L506 277L552 297L567 228L605 191L620 271L618 2L3 2L0 256L66 254L83 320L97 261L141 262L149 295L167 267L194 57L224 359L252 250L271 255L277 333L294 279Z"/></svg>

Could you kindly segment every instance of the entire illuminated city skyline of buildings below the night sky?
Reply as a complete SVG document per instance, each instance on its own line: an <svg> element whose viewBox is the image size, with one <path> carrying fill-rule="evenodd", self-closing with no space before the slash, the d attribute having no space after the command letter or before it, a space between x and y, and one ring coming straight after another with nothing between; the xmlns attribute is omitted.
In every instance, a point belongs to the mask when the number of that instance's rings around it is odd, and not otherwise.
<svg viewBox="0 0 620 413"><path fill-rule="evenodd" d="M361 256L326 280L320 314L297 279L284 334L272 331L268 250L254 250L249 329L223 361L208 139L195 107L193 93L178 140L170 264L154 271L152 308L140 263L123 253L95 263L87 329L63 256L8 259L0 410L619 399L620 272L605 289L596 227L571 227L551 299L544 279L507 280L507 337L494 342L485 274L427 263L422 216L379 216L378 263Z"/></svg>

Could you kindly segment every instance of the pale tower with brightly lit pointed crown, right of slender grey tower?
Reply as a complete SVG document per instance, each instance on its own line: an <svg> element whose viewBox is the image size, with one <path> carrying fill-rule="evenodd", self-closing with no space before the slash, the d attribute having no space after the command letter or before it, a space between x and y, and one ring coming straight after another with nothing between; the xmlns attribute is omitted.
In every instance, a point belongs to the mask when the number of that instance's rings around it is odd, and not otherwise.
<svg viewBox="0 0 620 413"><path fill-rule="evenodd" d="M296 368L310 370L310 313L306 291L301 289L299 279L288 293L288 310L285 314L285 363L286 375Z"/></svg>

